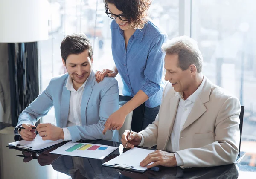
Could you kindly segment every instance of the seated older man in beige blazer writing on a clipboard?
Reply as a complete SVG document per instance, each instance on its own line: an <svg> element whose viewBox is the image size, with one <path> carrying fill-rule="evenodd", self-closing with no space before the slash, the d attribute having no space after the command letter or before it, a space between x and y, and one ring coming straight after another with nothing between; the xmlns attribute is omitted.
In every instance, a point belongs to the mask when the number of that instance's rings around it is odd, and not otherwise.
<svg viewBox="0 0 256 179"><path fill-rule="evenodd" d="M131 133L128 148L157 145L159 150L140 163L148 168L234 163L239 153L239 100L202 74L203 58L195 40L177 37L163 44L163 50L169 83L159 114L145 130ZM129 133L122 135L124 146Z"/></svg>

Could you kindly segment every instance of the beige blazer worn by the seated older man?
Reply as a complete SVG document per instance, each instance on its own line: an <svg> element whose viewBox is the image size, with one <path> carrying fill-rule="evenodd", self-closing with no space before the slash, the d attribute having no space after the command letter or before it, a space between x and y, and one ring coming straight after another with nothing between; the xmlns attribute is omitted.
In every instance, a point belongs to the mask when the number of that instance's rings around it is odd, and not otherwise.
<svg viewBox="0 0 256 179"><path fill-rule="evenodd" d="M206 77L204 77L206 78ZM144 147L157 145L166 150L171 145L170 135L175 121L179 97L171 83L163 91L162 104L155 121L140 133ZM206 78L180 132L183 167L210 167L234 163L239 153L239 100L227 95L224 89ZM170 146L170 148L172 148Z"/></svg>

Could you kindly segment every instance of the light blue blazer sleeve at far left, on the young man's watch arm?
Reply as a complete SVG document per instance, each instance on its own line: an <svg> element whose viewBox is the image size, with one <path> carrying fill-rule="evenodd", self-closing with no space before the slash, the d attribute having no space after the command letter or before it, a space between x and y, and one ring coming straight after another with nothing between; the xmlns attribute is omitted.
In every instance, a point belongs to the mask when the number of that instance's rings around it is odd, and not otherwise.
<svg viewBox="0 0 256 179"><path fill-rule="evenodd" d="M47 115L53 106L52 95L50 90L51 82L48 87L31 103L19 116L16 127L29 123L35 125L39 118Z"/></svg>

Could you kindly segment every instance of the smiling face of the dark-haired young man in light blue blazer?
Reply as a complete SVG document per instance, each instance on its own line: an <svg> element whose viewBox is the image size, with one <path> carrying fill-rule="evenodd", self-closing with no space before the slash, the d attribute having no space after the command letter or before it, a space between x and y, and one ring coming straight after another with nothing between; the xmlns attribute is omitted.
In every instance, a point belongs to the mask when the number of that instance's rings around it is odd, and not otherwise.
<svg viewBox="0 0 256 179"><path fill-rule="evenodd" d="M70 54L67 57L66 63L63 59L62 62L72 78L73 86L81 87L92 71L93 59L90 59L88 51L85 50L78 55Z"/></svg>

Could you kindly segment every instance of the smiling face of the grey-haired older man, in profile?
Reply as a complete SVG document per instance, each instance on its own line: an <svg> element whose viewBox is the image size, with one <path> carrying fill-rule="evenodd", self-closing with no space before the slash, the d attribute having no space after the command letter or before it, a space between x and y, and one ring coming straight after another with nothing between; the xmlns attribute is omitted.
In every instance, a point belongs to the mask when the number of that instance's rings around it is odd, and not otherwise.
<svg viewBox="0 0 256 179"><path fill-rule="evenodd" d="M184 92L189 90L193 81L190 67L182 70L179 67L178 54L166 54L164 68L166 69L165 80L172 83L172 87L176 92ZM194 67L193 67L194 68Z"/></svg>

